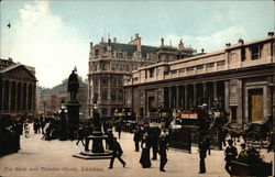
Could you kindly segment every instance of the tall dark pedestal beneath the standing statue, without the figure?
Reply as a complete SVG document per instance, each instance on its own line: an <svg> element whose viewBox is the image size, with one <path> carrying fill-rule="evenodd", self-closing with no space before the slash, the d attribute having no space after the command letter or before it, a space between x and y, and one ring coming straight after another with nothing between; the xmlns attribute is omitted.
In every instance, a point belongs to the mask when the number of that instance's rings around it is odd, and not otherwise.
<svg viewBox="0 0 275 177"><path fill-rule="evenodd" d="M78 101L69 101L67 104L68 110L68 139L75 140L77 137L77 130L79 125L79 107Z"/></svg>

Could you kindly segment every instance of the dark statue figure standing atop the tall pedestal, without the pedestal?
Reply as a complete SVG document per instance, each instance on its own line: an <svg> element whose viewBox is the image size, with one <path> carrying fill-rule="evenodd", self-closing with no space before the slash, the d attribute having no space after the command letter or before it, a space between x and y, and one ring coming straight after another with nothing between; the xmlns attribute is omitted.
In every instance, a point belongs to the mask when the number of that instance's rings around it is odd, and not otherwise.
<svg viewBox="0 0 275 177"><path fill-rule="evenodd" d="M68 91L70 95L70 101L77 101L77 92L79 88L79 82L75 70L72 71L68 78Z"/></svg>

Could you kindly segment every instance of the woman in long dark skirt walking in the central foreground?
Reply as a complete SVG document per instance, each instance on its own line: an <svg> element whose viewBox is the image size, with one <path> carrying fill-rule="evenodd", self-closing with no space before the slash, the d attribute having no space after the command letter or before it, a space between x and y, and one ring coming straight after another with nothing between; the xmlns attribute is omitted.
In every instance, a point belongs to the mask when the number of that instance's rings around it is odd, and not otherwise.
<svg viewBox="0 0 275 177"><path fill-rule="evenodd" d="M142 136L142 153L140 163L143 168L150 168L152 165L150 161L150 142L147 132Z"/></svg>

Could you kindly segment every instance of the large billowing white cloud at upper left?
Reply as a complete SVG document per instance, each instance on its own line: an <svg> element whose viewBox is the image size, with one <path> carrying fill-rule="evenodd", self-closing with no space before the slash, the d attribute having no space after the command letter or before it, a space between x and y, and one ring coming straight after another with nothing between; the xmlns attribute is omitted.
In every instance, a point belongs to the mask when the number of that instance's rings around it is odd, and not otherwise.
<svg viewBox="0 0 275 177"><path fill-rule="evenodd" d="M47 1L35 1L20 10L14 24L13 60L34 66L38 85L62 82L75 66L88 73L88 47L77 31L51 12Z"/></svg>

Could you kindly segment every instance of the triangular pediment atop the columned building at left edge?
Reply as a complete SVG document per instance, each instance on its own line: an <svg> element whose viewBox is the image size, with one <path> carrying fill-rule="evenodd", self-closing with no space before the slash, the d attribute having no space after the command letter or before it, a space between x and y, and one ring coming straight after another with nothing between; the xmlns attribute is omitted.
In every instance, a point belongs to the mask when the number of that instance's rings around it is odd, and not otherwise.
<svg viewBox="0 0 275 177"><path fill-rule="evenodd" d="M12 69L4 71L3 76L6 78L12 78L16 80L36 81L35 76L29 69L26 69L23 65L20 65L18 67L14 67Z"/></svg>

